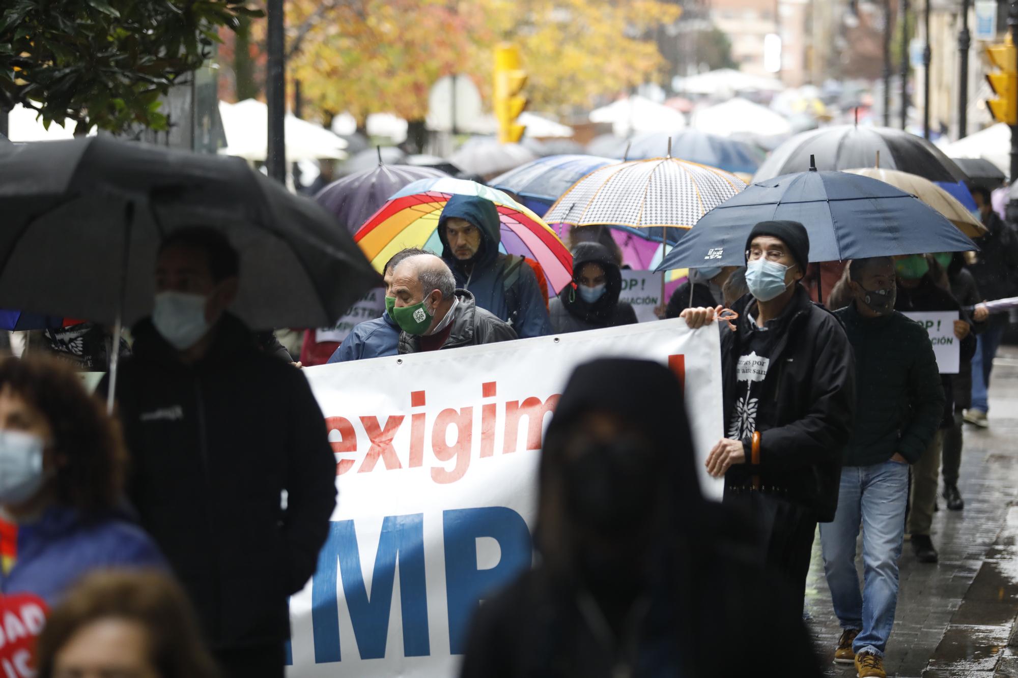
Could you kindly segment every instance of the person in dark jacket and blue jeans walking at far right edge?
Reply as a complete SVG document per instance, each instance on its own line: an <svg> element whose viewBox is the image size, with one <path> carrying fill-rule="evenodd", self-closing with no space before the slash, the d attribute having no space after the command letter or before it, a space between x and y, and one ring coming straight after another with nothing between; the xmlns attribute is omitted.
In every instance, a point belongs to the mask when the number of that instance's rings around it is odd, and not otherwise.
<svg viewBox="0 0 1018 678"><path fill-rule="evenodd" d="M975 252L975 262L969 265L968 270L975 278L983 299L1014 296L1018 290L1018 236L994 211L989 190L984 186L970 188L986 234L975 238L979 251ZM1007 326L1007 314L994 314L985 330L976 338L975 354L972 356L972 401L964 412L965 421L973 426L988 426L989 377Z"/></svg>

